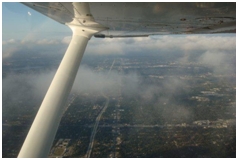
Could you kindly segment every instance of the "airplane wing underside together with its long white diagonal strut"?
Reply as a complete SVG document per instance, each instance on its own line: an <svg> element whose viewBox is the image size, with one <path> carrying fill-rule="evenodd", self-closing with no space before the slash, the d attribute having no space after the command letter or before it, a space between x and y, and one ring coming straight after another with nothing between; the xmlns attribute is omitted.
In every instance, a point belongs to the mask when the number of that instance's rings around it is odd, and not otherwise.
<svg viewBox="0 0 238 160"><path fill-rule="evenodd" d="M73 36L18 157L47 157L88 40L163 34L235 33L236 3L23 3Z"/></svg>

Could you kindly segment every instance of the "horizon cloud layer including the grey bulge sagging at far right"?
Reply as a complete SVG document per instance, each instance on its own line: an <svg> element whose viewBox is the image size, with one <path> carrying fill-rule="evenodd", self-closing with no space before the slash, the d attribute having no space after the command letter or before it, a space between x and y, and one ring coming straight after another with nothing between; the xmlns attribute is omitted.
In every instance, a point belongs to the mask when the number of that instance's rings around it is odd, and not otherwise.
<svg viewBox="0 0 238 160"><path fill-rule="evenodd" d="M2 42L3 62L11 58L33 56L62 56L71 40L62 39L9 39ZM169 35L148 38L92 38L85 51L87 55L168 55L181 63L197 62L216 71L230 71L235 64L236 39L234 34ZM176 59L177 60L177 59Z"/></svg>

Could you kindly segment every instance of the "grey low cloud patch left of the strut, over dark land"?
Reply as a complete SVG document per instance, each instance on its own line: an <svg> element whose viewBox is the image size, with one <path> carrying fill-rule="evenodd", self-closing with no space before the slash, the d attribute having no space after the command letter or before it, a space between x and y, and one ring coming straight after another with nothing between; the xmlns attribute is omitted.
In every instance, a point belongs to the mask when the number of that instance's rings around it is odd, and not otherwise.
<svg viewBox="0 0 238 160"><path fill-rule="evenodd" d="M36 73L10 73L3 78L3 96L11 97L14 101L29 100L31 97L42 98L49 85L55 71ZM23 94L24 93L24 94ZM4 98L3 98L4 100Z"/></svg>

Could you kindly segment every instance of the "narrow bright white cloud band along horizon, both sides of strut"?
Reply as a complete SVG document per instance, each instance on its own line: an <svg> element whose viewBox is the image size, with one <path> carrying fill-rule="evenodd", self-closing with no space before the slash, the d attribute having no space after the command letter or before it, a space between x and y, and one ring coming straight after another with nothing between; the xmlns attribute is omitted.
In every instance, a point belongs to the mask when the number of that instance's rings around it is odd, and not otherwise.
<svg viewBox="0 0 238 160"><path fill-rule="evenodd" d="M30 38L31 39L31 38ZM39 39L21 41L10 39L2 42L3 57L9 57L9 50L31 48L38 53L66 51L71 36L62 39ZM86 48L86 54L91 55L125 55L125 54L150 54L150 53L182 53L201 54L205 52L235 52L236 37L232 34L225 35L161 35L139 38L91 38ZM11 54L14 55L14 54Z"/></svg>

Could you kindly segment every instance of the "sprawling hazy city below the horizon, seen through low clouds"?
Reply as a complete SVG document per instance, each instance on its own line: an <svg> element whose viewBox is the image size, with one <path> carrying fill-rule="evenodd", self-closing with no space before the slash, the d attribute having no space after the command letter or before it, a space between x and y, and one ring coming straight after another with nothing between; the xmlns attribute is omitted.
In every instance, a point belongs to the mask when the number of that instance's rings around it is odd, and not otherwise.
<svg viewBox="0 0 238 160"><path fill-rule="evenodd" d="M226 72L176 55L86 56L79 70L86 80L76 78L49 157L236 157L230 56ZM22 70L14 70L20 62L5 62L3 80L54 69L59 61ZM25 95L32 100L9 102L4 91L2 152L17 157L43 95L30 89Z"/></svg>

